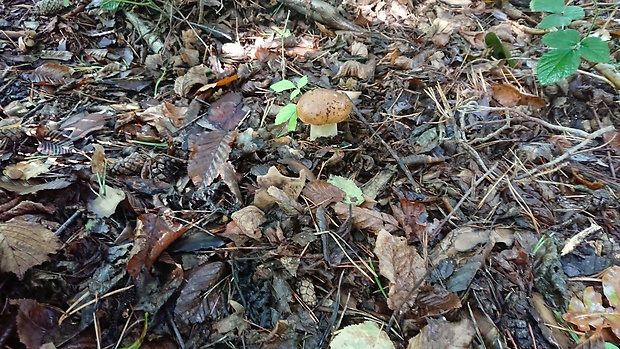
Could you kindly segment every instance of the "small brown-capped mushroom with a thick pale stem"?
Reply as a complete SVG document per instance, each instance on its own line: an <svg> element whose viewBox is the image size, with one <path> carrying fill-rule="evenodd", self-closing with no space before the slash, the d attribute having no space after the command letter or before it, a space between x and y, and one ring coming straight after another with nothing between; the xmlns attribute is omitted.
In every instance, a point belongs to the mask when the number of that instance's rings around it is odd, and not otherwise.
<svg viewBox="0 0 620 349"><path fill-rule="evenodd" d="M317 88L308 91L297 102L297 117L310 124L310 140L338 134L337 123L346 119L353 102L341 92Z"/></svg>

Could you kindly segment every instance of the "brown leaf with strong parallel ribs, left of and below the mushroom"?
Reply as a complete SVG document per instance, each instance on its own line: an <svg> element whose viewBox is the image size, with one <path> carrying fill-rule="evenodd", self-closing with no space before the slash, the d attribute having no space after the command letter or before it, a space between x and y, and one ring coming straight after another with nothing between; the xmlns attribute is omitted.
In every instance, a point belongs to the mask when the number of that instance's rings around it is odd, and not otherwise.
<svg viewBox="0 0 620 349"><path fill-rule="evenodd" d="M235 136L236 132L226 131L198 132L189 136L187 174L194 184L202 182L208 186L213 183L220 166L228 160Z"/></svg>

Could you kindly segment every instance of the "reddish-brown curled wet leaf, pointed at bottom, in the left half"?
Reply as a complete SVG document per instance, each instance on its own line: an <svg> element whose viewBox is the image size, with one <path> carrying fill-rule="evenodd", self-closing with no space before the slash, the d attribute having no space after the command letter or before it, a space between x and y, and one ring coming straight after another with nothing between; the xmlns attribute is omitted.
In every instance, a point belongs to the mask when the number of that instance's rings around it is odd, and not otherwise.
<svg viewBox="0 0 620 349"><path fill-rule="evenodd" d="M134 246L127 262L127 271L138 277L143 266L151 268L159 255L185 233L185 226L168 217L146 213L136 221Z"/></svg>

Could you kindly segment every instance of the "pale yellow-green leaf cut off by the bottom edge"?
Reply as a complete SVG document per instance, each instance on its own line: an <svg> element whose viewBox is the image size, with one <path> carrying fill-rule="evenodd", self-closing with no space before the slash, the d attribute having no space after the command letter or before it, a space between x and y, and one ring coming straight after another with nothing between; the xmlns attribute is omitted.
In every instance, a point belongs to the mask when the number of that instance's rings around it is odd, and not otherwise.
<svg viewBox="0 0 620 349"><path fill-rule="evenodd" d="M393 349L394 344L387 333L382 331L377 324L366 321L340 330L329 347L330 349Z"/></svg>

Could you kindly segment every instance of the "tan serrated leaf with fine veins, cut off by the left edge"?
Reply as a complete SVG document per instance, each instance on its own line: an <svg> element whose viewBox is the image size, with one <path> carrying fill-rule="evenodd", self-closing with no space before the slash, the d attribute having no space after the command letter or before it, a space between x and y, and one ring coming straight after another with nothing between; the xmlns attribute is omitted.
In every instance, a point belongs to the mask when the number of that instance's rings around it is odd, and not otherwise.
<svg viewBox="0 0 620 349"><path fill-rule="evenodd" d="M15 273L20 279L28 269L48 261L48 254L59 248L58 237L39 223L0 223L0 270Z"/></svg>

